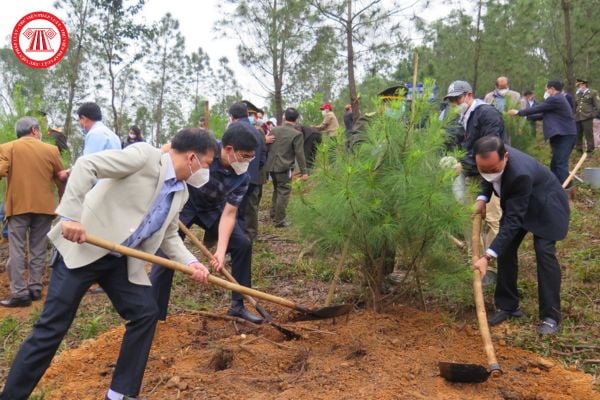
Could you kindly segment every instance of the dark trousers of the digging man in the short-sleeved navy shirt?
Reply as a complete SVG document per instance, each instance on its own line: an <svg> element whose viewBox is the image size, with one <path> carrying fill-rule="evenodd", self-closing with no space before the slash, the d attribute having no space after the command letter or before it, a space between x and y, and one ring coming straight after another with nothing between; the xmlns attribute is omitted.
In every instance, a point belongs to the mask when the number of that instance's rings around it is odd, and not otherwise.
<svg viewBox="0 0 600 400"><path fill-rule="evenodd" d="M214 243L219 236L219 221L213 226L205 226L193 213L187 213L186 208L179 215L179 219L186 227L194 224L204 229L204 242ZM231 274L242 286L252 285L252 242L248 238L241 222L236 220L235 227L231 233L227 252L231 254ZM164 253L159 252L164 257ZM205 265L208 266L207 260ZM167 318L169 298L171 297L171 286L173 284L174 271L160 265L152 265L150 281L152 282L153 296L158 305L158 319L164 321ZM232 307L243 306L244 298L237 292L231 294Z"/></svg>

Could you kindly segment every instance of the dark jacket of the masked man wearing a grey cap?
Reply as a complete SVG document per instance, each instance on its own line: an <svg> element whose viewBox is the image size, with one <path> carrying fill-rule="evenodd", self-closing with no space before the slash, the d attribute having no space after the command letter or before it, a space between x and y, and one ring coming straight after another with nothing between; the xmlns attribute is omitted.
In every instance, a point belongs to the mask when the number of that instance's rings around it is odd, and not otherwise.
<svg viewBox="0 0 600 400"><path fill-rule="evenodd" d="M462 142L467 155L461 160L463 171L467 176L479 175L473 157L473 145L477 139L484 136L498 136L506 143L502 114L494 106L486 103L477 105L467 121L465 140Z"/></svg>

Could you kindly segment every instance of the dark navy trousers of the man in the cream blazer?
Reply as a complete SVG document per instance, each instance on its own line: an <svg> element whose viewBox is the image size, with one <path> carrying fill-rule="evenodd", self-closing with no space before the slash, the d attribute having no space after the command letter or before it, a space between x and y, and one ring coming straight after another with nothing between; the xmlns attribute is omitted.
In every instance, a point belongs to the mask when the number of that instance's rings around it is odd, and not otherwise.
<svg viewBox="0 0 600 400"><path fill-rule="evenodd" d="M82 297L95 282L127 321L110 387L128 396L139 394L154 338L156 303L150 286L129 282L126 257L107 255L76 269L67 268L58 257L40 319L21 345L0 399L29 398L71 326Z"/></svg>

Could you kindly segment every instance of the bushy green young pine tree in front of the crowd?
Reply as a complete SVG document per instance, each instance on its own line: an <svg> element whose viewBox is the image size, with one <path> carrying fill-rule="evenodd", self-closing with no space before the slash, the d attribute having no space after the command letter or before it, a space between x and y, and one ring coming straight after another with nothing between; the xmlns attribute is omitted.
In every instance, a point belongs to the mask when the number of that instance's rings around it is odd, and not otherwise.
<svg viewBox="0 0 600 400"><path fill-rule="evenodd" d="M370 120L365 142L350 153L341 137L326 141L292 202L294 223L309 240L322 238L318 246L332 251L351 238L350 251L366 260L368 281L381 275L383 249L416 268L467 221L466 207L452 195L454 172L439 166L444 130L430 107L418 99L410 114L403 100L391 104Z"/></svg>

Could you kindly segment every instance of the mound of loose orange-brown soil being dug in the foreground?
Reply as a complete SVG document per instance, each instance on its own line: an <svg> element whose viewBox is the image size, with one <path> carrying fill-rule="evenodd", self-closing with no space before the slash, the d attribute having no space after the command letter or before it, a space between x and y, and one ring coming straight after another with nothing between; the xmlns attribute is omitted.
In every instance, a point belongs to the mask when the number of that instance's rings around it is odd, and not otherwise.
<svg viewBox="0 0 600 400"><path fill-rule="evenodd" d="M286 316L279 315L279 320ZM146 370L150 399L600 399L592 378L536 354L496 344L504 375L452 384L438 361L485 365L478 332L409 307L347 320L285 324L303 335L178 315L161 323ZM123 329L55 359L46 399L98 399L109 386Z"/></svg>

